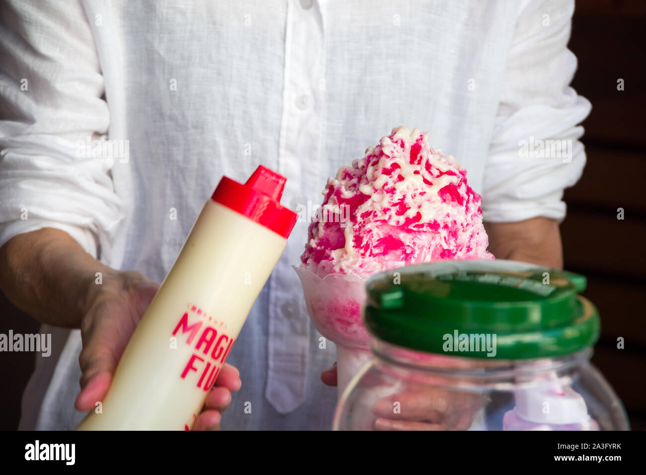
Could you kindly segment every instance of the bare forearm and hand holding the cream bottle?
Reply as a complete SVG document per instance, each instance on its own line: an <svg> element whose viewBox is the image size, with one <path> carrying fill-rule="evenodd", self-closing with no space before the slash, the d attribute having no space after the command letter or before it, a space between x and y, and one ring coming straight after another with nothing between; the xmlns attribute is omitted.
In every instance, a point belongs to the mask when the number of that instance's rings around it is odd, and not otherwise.
<svg viewBox="0 0 646 475"><path fill-rule="evenodd" d="M75 406L82 411L94 408L107 393L123 350L159 284L141 273L106 266L65 231L52 227L5 242L0 246L0 268L0 289L18 308L49 325L81 328L81 392ZM95 283L98 273L101 284ZM238 370L225 364L193 428L220 428L231 391L240 385Z"/></svg>

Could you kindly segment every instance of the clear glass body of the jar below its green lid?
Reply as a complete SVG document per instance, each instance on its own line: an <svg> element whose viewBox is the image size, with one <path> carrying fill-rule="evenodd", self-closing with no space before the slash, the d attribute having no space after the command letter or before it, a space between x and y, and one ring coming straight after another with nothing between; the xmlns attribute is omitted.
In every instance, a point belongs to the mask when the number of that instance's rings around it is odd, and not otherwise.
<svg viewBox="0 0 646 475"><path fill-rule="evenodd" d="M592 350L541 359L436 355L371 342L333 430L629 430Z"/></svg>

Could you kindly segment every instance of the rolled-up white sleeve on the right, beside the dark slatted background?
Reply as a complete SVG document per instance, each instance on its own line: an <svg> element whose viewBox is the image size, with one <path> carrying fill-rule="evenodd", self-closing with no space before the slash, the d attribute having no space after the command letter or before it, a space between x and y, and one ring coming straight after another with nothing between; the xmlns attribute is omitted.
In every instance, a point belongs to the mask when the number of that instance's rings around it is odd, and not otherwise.
<svg viewBox="0 0 646 475"><path fill-rule="evenodd" d="M508 57L483 181L483 217L516 222L565 218L563 190L585 166L577 126L590 103L569 87L574 1L525 1Z"/></svg>

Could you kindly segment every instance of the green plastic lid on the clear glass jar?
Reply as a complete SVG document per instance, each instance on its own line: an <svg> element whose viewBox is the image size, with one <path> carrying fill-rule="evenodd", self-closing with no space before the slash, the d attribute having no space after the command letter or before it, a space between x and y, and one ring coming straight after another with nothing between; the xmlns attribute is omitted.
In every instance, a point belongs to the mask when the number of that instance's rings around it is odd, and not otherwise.
<svg viewBox="0 0 646 475"><path fill-rule="evenodd" d="M566 355L599 338L599 314L578 295L582 275L509 260L441 261L366 282L364 321L375 337L463 357Z"/></svg>

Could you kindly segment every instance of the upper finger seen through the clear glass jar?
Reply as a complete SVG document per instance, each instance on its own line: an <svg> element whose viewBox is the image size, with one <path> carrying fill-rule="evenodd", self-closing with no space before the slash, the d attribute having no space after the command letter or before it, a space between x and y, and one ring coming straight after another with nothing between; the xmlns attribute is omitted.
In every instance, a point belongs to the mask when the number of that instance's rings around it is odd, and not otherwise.
<svg viewBox="0 0 646 475"><path fill-rule="evenodd" d="M379 399L373 412L379 417L399 421L440 422L450 412L456 396L444 390L401 392Z"/></svg>

